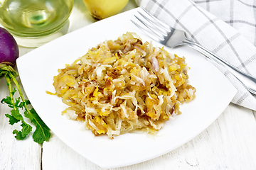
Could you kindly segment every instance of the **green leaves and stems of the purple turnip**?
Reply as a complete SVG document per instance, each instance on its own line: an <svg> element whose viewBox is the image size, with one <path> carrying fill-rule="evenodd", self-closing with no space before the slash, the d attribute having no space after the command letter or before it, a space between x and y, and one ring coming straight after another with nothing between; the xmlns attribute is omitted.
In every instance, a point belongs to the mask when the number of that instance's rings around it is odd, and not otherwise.
<svg viewBox="0 0 256 170"><path fill-rule="evenodd" d="M38 116L35 109L31 106L30 101L26 100L22 94L21 87L18 84L18 81L15 77L18 77L18 72L16 72L11 66L6 64L0 65L0 79L2 77L6 78L7 86L9 89L9 96L3 98L1 103L6 103L11 110L11 114L6 114L6 117L9 118L9 124L14 125L15 123L21 122L21 130L14 130L13 134L17 140L23 140L26 136L32 131L32 126L25 122L24 117L31 120L31 123L36 125L36 130L33 132L33 140L39 144L42 144L44 141L48 141L50 138L50 129L48 126L43 123L43 120ZM12 88L12 82L14 82L18 94L20 97L14 98L16 89ZM25 111L21 115L20 110Z"/></svg>

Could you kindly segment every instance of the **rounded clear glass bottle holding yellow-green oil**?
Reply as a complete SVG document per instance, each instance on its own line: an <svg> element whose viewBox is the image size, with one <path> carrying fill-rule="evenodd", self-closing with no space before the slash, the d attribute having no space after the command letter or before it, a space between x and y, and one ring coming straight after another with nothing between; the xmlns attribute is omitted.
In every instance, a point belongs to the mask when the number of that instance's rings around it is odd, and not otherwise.
<svg viewBox="0 0 256 170"><path fill-rule="evenodd" d="M39 40L63 28L72 8L73 0L0 0L0 23L23 42Z"/></svg>

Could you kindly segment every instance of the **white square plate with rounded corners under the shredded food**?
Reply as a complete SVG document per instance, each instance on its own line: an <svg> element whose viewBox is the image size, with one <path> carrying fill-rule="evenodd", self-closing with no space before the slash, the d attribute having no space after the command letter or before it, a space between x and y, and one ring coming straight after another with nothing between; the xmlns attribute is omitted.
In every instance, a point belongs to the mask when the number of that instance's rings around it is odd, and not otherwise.
<svg viewBox="0 0 256 170"><path fill-rule="evenodd" d="M206 57L188 47L171 49L172 54L186 57L190 84L196 87L196 98L181 106L181 115L166 122L156 137L128 133L114 137L94 137L90 130L81 131L82 123L68 120L61 112L67 107L54 92L53 77L58 69L85 55L105 40L115 40L123 33L137 33L142 41L151 41L130 21L135 8L92 23L48 42L17 60L18 72L28 99L48 127L83 157L102 168L115 168L144 162L185 144L205 130L228 106L236 89ZM155 46L162 45L153 42Z"/></svg>

